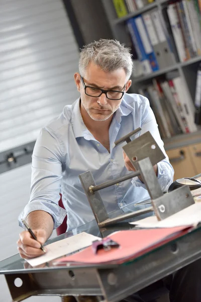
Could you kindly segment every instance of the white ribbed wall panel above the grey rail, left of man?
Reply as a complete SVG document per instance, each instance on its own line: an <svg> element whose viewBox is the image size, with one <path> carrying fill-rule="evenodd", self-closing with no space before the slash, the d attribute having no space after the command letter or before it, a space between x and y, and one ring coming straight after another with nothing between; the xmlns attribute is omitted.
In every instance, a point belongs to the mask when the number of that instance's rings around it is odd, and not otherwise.
<svg viewBox="0 0 201 302"><path fill-rule="evenodd" d="M0 0L0 152L36 139L78 93L62 0Z"/></svg>

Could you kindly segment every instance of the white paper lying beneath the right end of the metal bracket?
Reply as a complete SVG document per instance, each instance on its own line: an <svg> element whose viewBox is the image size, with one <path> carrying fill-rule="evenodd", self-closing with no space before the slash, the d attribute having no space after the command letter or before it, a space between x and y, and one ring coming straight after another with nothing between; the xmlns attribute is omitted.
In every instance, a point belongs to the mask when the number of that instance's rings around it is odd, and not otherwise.
<svg viewBox="0 0 201 302"><path fill-rule="evenodd" d="M130 222L140 228L173 228L180 225L197 225L201 222L201 203L194 203L187 208L158 221L156 216Z"/></svg>

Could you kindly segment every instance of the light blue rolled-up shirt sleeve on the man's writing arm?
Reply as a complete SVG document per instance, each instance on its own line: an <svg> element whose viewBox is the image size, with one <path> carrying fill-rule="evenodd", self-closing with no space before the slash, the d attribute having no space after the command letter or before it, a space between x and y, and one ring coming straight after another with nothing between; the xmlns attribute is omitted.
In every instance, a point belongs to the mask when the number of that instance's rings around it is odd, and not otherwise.
<svg viewBox="0 0 201 302"><path fill-rule="evenodd" d="M62 223L66 211L58 205L62 179L62 142L54 131L43 128L36 141L32 156L31 194L29 203L19 215L21 219L36 210L49 213L54 220L54 229Z"/></svg>

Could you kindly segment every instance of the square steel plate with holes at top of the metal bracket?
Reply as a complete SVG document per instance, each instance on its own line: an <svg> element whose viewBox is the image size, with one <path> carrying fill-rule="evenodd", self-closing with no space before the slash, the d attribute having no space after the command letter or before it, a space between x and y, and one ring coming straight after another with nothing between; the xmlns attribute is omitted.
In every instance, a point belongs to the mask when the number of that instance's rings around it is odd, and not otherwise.
<svg viewBox="0 0 201 302"><path fill-rule="evenodd" d="M145 158L150 158L152 166L165 159L163 152L149 131L127 143L123 149L136 170L138 169L138 161Z"/></svg>

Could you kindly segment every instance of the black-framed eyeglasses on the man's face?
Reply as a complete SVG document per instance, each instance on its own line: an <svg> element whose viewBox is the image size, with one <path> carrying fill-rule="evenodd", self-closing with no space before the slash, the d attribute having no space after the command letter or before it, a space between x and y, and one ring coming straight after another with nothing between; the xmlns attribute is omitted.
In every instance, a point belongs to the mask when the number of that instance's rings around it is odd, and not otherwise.
<svg viewBox="0 0 201 302"><path fill-rule="evenodd" d="M104 90L104 89L101 89L101 88L87 86L87 85L85 85L83 78L81 76L80 76L80 78L81 78L81 82L82 82L83 87L84 87L85 94L89 97L98 98L103 93L105 93L106 97L109 100L118 101L118 100L121 100L123 98L123 95L125 94L125 91ZM125 87L126 87L126 84L124 85L123 90L125 90Z"/></svg>

